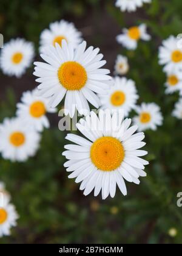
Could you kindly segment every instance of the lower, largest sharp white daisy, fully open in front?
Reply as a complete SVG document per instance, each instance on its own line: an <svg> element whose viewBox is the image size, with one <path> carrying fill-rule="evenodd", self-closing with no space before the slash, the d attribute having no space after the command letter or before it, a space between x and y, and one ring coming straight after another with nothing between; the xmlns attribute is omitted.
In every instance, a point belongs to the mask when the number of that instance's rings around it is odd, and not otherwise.
<svg viewBox="0 0 182 256"><path fill-rule="evenodd" d="M76 124L84 137L68 134L66 139L75 144L65 146L65 155L68 161L64 164L69 178L76 178L81 182L80 190L84 195L91 193L98 196L102 191L103 199L114 197L116 184L124 195L127 194L128 182L140 183L138 177L146 176L144 165L148 162L141 156L147 152L139 150L146 143L144 133L135 133L137 126L129 128L131 119L125 119L120 112L111 115L109 110L99 110L98 116L94 112L81 119Z"/></svg>

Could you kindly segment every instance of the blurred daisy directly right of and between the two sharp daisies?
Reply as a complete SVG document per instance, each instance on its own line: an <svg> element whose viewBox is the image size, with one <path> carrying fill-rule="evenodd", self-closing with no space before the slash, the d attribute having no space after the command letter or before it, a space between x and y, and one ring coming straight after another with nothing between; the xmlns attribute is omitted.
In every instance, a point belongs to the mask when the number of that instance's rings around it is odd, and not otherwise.
<svg viewBox="0 0 182 256"><path fill-rule="evenodd" d="M110 110L121 109L124 116L128 116L129 112L135 108L138 94L135 82L126 77L115 77L113 85L110 87L106 95L101 95L101 108Z"/></svg>

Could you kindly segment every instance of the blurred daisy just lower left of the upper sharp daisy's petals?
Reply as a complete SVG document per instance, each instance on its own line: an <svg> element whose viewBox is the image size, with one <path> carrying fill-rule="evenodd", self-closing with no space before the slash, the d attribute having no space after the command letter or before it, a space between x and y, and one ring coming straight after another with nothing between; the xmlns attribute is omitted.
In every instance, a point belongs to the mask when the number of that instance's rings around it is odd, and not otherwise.
<svg viewBox="0 0 182 256"><path fill-rule="evenodd" d="M37 89L26 91L22 94L22 103L17 104L16 115L30 128L42 132L45 128L49 128L49 119L46 113L55 113L56 108L50 108L46 98L37 96Z"/></svg>

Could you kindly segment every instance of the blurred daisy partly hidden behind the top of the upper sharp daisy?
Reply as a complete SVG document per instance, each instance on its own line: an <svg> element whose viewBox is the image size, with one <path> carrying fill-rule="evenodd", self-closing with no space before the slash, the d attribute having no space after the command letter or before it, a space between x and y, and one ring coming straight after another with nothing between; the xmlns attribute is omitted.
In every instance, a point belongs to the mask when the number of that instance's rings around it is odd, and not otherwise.
<svg viewBox="0 0 182 256"><path fill-rule="evenodd" d="M73 23L61 20L51 23L49 29L44 29L41 33L40 52L45 53L45 48L49 45L55 46L55 43L62 45L62 40L71 43L76 48L81 43L81 32L79 32Z"/></svg>

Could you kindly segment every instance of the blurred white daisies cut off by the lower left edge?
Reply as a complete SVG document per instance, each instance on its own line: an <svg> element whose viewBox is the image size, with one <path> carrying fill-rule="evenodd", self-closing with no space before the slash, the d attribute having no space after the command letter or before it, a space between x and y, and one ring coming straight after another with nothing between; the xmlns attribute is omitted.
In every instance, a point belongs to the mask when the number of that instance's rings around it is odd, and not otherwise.
<svg viewBox="0 0 182 256"><path fill-rule="evenodd" d="M4 183L0 182L0 237L10 235L10 229L16 226L18 219L16 209L10 200L10 194L5 189Z"/></svg>

